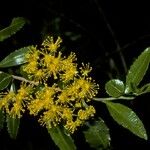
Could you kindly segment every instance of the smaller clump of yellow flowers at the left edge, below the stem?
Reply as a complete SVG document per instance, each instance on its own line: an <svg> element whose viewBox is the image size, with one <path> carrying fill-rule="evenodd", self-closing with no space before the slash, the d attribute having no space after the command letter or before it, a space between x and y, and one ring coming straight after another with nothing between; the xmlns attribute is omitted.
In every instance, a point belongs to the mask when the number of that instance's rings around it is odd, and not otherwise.
<svg viewBox="0 0 150 150"><path fill-rule="evenodd" d="M32 85L27 86L22 83L17 92L10 90L3 94L0 100L0 110L6 111L13 118L21 118L32 91Z"/></svg>

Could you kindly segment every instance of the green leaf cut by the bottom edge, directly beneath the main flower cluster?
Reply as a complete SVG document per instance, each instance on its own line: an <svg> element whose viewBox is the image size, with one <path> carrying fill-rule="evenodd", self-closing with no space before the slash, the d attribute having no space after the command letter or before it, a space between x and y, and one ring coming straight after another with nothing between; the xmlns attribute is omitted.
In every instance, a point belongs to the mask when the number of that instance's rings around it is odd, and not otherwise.
<svg viewBox="0 0 150 150"><path fill-rule="evenodd" d="M47 127L47 130L60 150L76 150L73 139L70 134L65 132L64 128L58 126L53 128Z"/></svg>

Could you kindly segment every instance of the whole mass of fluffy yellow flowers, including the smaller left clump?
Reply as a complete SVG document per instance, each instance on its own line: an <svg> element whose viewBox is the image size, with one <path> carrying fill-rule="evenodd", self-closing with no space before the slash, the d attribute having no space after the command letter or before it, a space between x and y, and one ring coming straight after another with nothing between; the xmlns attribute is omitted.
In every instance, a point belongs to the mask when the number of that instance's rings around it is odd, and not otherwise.
<svg viewBox="0 0 150 150"><path fill-rule="evenodd" d="M60 52L62 39L48 37L41 48L32 46L26 54L23 71L38 85L22 84L14 93L9 92L0 101L12 116L21 117L26 107L30 114L39 116L47 127L63 124L71 133L93 117L95 109L90 100L97 94L98 85L89 77L89 64L78 69L76 55L66 57Z"/></svg>

